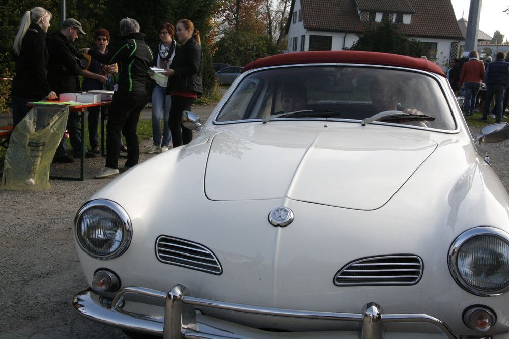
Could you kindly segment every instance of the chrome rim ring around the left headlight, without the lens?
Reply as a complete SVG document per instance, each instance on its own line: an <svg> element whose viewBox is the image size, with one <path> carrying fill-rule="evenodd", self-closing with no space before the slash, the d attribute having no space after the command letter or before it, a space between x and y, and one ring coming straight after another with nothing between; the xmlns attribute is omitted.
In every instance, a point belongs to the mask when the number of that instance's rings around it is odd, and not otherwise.
<svg viewBox="0 0 509 339"><path fill-rule="evenodd" d="M78 224L77 223L78 223L80 217L83 215L83 213L92 207L106 207L106 208L110 209L112 212L114 212L115 214L117 214L117 216L122 221L122 228L123 228L123 232L124 232L122 241L121 241L119 247L115 251L109 253L108 255L101 256L101 255L97 255L96 253L91 252L85 246L83 246L83 244L79 240ZM84 204L79 209L78 213L76 214L76 217L74 218L74 237L76 238L76 242L79 244L79 247L84 252L86 252L89 256L99 259L99 260L113 259L113 258L116 258L116 257L122 255L122 253L124 253L127 250L127 248L129 247L129 244L131 243L131 239L132 239L131 219L129 218L129 215L127 214L127 212L122 208L122 206L120 206L119 204L117 204L114 201L107 200L107 199L92 200L92 201Z"/></svg>

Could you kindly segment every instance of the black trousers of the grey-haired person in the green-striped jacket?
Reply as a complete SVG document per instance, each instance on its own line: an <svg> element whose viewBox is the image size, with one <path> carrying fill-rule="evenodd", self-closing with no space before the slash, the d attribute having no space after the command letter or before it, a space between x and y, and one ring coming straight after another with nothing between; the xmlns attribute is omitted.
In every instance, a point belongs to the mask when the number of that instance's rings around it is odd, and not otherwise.
<svg viewBox="0 0 509 339"><path fill-rule="evenodd" d="M125 165L132 167L139 160L139 142L136 129L139 114L148 102L146 92L119 93L115 92L109 107L108 123L106 125L106 167L119 168L119 149L121 135L124 134L127 146L127 161Z"/></svg>

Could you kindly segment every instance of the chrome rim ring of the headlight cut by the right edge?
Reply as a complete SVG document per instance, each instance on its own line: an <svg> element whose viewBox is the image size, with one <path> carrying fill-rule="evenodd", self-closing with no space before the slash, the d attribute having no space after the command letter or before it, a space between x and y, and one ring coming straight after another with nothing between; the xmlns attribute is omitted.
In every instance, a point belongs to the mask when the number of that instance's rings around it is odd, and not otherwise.
<svg viewBox="0 0 509 339"><path fill-rule="evenodd" d="M467 230L460 234L451 244L449 248L449 253L447 257L447 263L449 266L449 271L453 278L456 280L458 285L460 285L464 290L466 290L469 293L475 294L477 296L481 297L491 297L491 296L497 296L501 295L507 291L509 291L509 284L506 284L505 287L495 290L495 291L485 291L478 288L475 288L469 284L466 283L466 281L461 276L461 273L458 268L458 253L463 244L465 244L468 240L470 240L473 237L480 236L480 235L488 235L488 236L494 236L502 241L504 241L506 244L509 245L509 233L505 232L504 230L491 227L491 226L479 226L472 228L470 230Z"/></svg>

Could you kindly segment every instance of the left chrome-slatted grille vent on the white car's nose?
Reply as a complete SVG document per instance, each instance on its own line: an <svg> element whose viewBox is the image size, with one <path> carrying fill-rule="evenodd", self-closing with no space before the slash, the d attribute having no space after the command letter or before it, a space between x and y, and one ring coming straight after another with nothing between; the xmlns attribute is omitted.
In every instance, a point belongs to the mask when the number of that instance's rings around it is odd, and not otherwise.
<svg viewBox="0 0 509 339"><path fill-rule="evenodd" d="M219 260L210 249L195 242L159 236L156 240L156 255L159 261L212 274L221 274Z"/></svg>

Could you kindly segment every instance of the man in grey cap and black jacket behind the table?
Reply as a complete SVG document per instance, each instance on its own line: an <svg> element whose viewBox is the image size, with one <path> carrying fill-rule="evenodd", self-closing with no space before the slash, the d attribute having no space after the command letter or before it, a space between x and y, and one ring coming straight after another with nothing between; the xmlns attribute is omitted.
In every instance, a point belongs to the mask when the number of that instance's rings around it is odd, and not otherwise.
<svg viewBox="0 0 509 339"><path fill-rule="evenodd" d="M82 75L82 54L72 44L80 34L85 34L78 20L69 18L62 24L62 29L55 32L49 41L48 82L51 88L60 93L75 93L79 90L78 76ZM79 134L80 120L77 112L69 112L67 130L73 148L74 157L80 157L82 140ZM56 150L53 162L73 162L69 156L69 148L65 138ZM87 157L93 157L93 153L86 153Z"/></svg>

